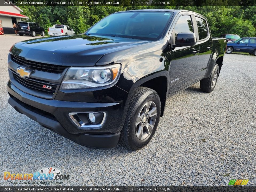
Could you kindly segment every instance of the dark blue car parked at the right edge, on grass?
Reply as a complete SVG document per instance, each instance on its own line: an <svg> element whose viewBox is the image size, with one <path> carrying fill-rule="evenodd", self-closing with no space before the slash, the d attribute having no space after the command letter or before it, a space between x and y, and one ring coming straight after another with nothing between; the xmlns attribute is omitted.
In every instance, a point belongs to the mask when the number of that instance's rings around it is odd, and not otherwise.
<svg viewBox="0 0 256 192"><path fill-rule="evenodd" d="M227 44L226 53L245 52L256 56L256 37L243 37Z"/></svg>

